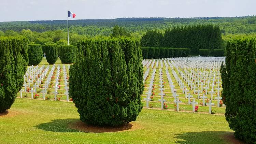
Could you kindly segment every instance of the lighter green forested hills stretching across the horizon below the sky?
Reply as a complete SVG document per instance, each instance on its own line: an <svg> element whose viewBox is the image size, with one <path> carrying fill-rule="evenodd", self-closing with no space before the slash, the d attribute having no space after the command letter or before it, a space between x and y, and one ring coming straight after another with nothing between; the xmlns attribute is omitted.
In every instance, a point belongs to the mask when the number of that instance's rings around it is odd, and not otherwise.
<svg viewBox="0 0 256 144"><path fill-rule="evenodd" d="M72 45L76 45L77 41L90 37L119 37L124 35L141 39L147 31L155 30L159 33L158 37L165 37L165 33L168 34L169 32L170 34L176 28L184 29L197 27L198 25L218 27L218 35L222 35L224 47L226 41L230 38L239 35L256 35L256 16L116 18L69 20L69 40ZM0 22L0 36L2 35L24 35L31 43L41 45L53 43L67 45L67 20ZM208 36L210 37L210 35ZM153 47L172 47L166 42L156 42ZM178 47L189 48L186 43L183 44L183 46ZM175 44L173 47L177 47L177 45ZM201 49L204 48L204 46L201 47ZM199 47L196 49L199 49ZM191 52L194 52L194 50L191 49Z"/></svg>

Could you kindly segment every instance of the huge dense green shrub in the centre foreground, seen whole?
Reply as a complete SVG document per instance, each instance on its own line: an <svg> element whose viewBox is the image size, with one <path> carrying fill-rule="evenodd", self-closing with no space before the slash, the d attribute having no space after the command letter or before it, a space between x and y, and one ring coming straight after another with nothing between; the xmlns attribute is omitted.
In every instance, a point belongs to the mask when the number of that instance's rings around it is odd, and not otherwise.
<svg viewBox="0 0 256 144"><path fill-rule="evenodd" d="M99 126L136 120L142 109L142 52L130 38L87 39L77 43L70 67L70 97L80 119Z"/></svg>

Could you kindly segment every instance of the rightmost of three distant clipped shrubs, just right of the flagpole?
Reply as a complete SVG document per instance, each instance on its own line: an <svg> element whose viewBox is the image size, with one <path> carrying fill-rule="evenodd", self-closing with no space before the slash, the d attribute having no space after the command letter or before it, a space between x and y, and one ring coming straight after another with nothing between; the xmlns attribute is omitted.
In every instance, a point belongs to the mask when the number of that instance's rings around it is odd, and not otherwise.
<svg viewBox="0 0 256 144"><path fill-rule="evenodd" d="M77 54L77 47L73 45L58 46L61 63L73 63Z"/></svg>

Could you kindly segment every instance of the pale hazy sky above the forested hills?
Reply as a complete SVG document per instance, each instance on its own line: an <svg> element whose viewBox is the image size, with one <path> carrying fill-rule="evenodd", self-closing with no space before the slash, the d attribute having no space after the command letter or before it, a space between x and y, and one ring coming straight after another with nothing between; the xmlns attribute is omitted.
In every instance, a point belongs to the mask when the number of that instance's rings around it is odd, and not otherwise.
<svg viewBox="0 0 256 144"><path fill-rule="evenodd" d="M256 0L0 0L0 21L256 15Z"/></svg>

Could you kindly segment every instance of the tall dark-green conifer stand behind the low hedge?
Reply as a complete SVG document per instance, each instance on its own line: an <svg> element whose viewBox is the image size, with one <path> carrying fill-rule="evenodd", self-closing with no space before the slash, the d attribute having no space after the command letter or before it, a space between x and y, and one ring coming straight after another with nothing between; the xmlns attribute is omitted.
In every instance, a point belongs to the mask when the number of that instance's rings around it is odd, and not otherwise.
<svg viewBox="0 0 256 144"><path fill-rule="evenodd" d="M199 49L224 49L224 42L218 26L193 25L168 28L164 33L148 30L141 38L141 46L189 48L191 52L198 52Z"/></svg>

